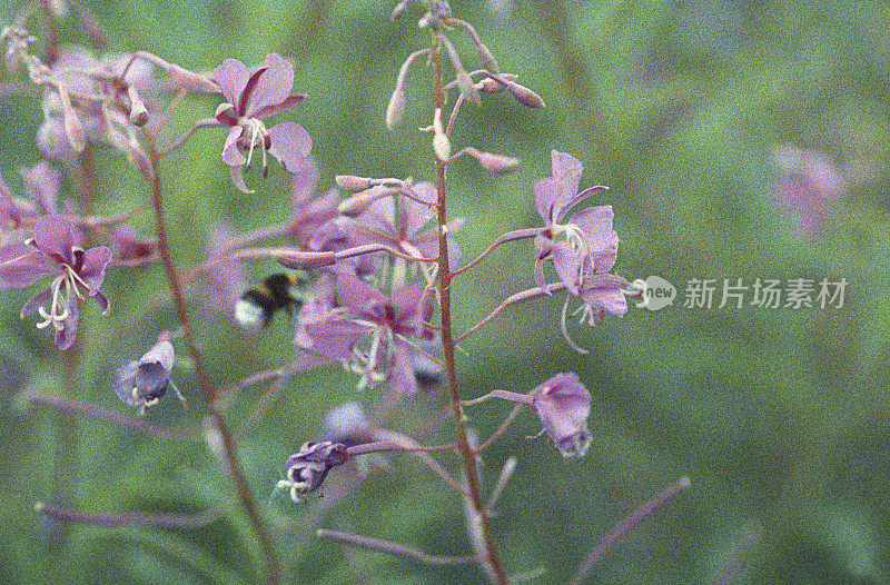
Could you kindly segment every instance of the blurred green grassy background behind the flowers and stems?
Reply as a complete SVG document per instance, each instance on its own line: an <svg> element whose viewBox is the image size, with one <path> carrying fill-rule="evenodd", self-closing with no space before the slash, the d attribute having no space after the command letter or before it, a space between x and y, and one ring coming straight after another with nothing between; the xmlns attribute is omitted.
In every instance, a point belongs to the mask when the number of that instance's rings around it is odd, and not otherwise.
<svg viewBox="0 0 890 585"><path fill-rule="evenodd" d="M320 190L334 176L433 178L427 126L428 69L408 79L403 125L384 115L404 58L428 34L411 7L393 22L386 2L89 2L115 51L144 49L209 70L222 59L248 65L278 51L296 63L295 91L307 95L276 120L294 120L314 139ZM17 3L0 2L9 23ZM508 456L518 458L494 519L513 573L543 566L540 583L563 583L582 558L642 502L689 476L692 486L621 541L587 583L708 583L732 551L746 562L738 583L887 583L890 579L890 4L851 0L640 0L602 2L458 1L454 14L476 24L502 71L538 92L528 110L506 93L465 107L454 150L474 146L520 157L522 167L492 177L472 160L449 167L452 217L465 257L498 234L540 226L532 182L548 176L550 150L577 157L582 188L609 185L622 244L615 271L660 275L679 289L659 311L632 307L602 326L572 323L576 355L560 333L562 297L513 308L463 344L466 396L494 388L527 391L558 371L577 371L593 395L593 444L563 460L531 413L486 453L491 485ZM36 21L30 22L34 32ZM83 42L68 17L62 39ZM467 68L466 37L452 34ZM9 77L6 78L9 80ZM172 127L211 116L215 97L187 99ZM21 192L18 169L41 155L38 97L0 103L0 173ZM167 137L169 138L169 136ZM164 182L180 266L202 260L208 226L228 218L246 231L288 216L290 186L273 169L257 192L231 185L220 160L221 130L208 130L169 159ZM771 156L781 145L821 151L844 168L866 169L833 206L823 232L801 237L774 204ZM97 212L113 214L149 197L148 186L116 152L97 156ZM251 179L253 182L251 182ZM73 192L70 181L66 192ZM134 219L152 234L148 214ZM456 285L463 329L505 296L534 286L534 249L505 246ZM275 270L251 267L254 279ZM691 278L846 278L842 308L684 308ZM85 512L199 512L226 502L231 486L199 440L160 442L83 418L72 420L16 394L36 387L125 412L110 380L175 319L159 266L109 270L112 313L81 313L81 361L66 363L46 331L21 321L30 291L9 290L0 310L0 582L253 583L258 546L239 510L199 531L95 528L47 522L34 502ZM719 295L719 292L718 292ZM201 318L211 376L219 385L287 363L293 327L276 320L254 339L231 324ZM66 371L68 373L66 375ZM191 373L174 378L191 400L149 413L159 426L200 425L205 405ZM68 381L66 381L68 380ZM265 386L229 410L233 426ZM248 479L268 504L279 552L295 558L289 583L483 583L476 568L429 568L379 553L344 551L299 525L314 506L271 498L286 457L316 436L334 406L375 391L354 389L340 368L295 380L244 440ZM445 405L441 393L407 400L393 426L412 432ZM508 405L472 412L482 437ZM448 425L427 437L449 440ZM441 459L452 469L454 458ZM368 476L342 502L334 494L326 527L415 545L431 554L469 554L455 494L408 457ZM338 505L335 506L334 504ZM753 543L746 545L745 543ZM748 556L750 555L750 556Z"/></svg>

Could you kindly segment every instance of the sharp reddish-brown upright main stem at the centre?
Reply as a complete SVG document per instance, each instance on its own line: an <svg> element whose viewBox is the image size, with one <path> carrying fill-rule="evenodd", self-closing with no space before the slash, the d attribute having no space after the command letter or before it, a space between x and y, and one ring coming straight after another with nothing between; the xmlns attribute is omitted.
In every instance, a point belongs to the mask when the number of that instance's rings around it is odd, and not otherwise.
<svg viewBox="0 0 890 585"><path fill-rule="evenodd" d="M442 109L445 106L445 91L442 89L442 46L437 42L432 51L435 107ZM452 395L452 406L454 408L454 425L457 434L457 447L466 474L467 488L469 489L473 508L481 518L482 535L485 542L484 559L491 567L491 572L497 578L500 585L508 585L510 578L501 565L501 556L497 554L492 531L488 524L488 516L485 513L485 504L482 500L479 489L479 476L476 468L476 454L469 447L466 436L466 418L461 400L461 389L457 386L457 371L454 365L454 338L452 336L452 272L448 268L448 242L447 232L443 230L447 224L445 210L445 168L446 163L436 157L436 190L438 192L437 220L438 220L438 275L439 275L439 303L442 309L442 346L445 356L445 378L448 381L448 390Z"/></svg>

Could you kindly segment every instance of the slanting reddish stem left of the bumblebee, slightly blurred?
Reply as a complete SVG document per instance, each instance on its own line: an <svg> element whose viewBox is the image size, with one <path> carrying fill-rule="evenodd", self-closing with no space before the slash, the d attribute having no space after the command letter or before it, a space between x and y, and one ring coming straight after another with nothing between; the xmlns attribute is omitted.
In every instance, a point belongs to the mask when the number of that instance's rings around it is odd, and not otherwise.
<svg viewBox="0 0 890 585"><path fill-rule="evenodd" d="M250 527L259 541L263 548L263 557L266 564L266 583L269 585L277 585L281 582L281 571L278 565L278 559L275 555L275 545L271 535L266 528L263 517L259 514L259 508L250 494L250 486L247 484L247 478L244 474L244 467L238 458L237 445L231 436L231 433L222 419L221 412L215 406L216 390L210 383L207 375L207 369L204 365L200 349L195 343L195 335L191 329L191 323L188 318L186 310L186 300L182 295L182 284L179 280L179 274L176 271L172 258L170 257L170 247L167 240L167 228L164 220L164 201L161 199L160 176L158 175L158 162L160 161L160 153L152 140L148 140L148 156L150 161L151 173L151 201L155 207L155 221L158 231L158 251L164 260L164 269L167 272L167 279L170 281L170 289L174 295L174 304L176 305L176 313L179 316L179 323L182 327L186 345L188 346L191 356L191 363L195 366L195 374L198 377L198 384L204 390L204 396L210 408L210 416L219 436L222 439L222 452L231 480L235 483L235 490L238 495L238 500L244 506L247 513L247 518L250 522Z"/></svg>

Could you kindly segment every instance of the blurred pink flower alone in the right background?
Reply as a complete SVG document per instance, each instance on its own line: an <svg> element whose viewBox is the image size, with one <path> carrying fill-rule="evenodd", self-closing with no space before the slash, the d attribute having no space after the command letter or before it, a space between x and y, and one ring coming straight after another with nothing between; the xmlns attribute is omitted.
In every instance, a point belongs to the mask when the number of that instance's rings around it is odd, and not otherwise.
<svg viewBox="0 0 890 585"><path fill-rule="evenodd" d="M777 204L791 216L800 235L819 236L849 188L843 171L821 152L790 146L777 149L773 162L782 173L772 189Z"/></svg>

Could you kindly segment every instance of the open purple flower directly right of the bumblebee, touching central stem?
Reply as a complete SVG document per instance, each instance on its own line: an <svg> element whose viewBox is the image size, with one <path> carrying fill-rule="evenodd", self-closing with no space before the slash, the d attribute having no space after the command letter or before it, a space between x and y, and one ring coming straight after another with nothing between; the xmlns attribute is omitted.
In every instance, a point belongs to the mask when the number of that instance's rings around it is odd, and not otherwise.
<svg viewBox="0 0 890 585"><path fill-rule="evenodd" d="M307 304L300 311L297 345L346 360L362 375L359 387L374 387L388 371L394 388L404 395L416 394L415 350L407 339L422 337L423 289L404 285L389 299L354 274L337 275L337 284L343 307L322 300ZM360 349L358 343L366 337L370 346Z"/></svg>

